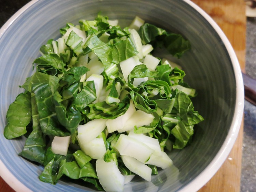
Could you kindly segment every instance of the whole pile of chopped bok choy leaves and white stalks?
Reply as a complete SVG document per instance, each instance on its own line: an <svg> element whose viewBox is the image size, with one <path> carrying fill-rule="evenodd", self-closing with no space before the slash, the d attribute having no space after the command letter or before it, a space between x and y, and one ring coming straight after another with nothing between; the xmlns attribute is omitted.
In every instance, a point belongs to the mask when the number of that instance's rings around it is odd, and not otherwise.
<svg viewBox="0 0 256 192"><path fill-rule="evenodd" d="M4 136L27 138L19 155L44 166L44 182L65 176L122 191L134 175L150 181L172 164L164 150L187 146L203 120L184 71L152 56L160 47L180 58L189 41L139 17L122 29L100 14L68 23L60 33L40 48L34 74L8 109ZM108 180L108 170L118 179Z"/></svg>

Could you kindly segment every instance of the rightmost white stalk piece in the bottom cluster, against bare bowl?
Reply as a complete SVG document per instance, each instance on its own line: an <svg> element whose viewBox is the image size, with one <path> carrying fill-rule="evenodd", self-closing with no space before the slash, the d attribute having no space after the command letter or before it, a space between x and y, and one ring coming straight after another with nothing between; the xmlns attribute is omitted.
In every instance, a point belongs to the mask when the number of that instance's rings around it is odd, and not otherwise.
<svg viewBox="0 0 256 192"><path fill-rule="evenodd" d="M146 164L151 164L157 167L161 167L162 169L166 169L172 165L172 160L169 158L166 152L161 151L160 156L152 154Z"/></svg>

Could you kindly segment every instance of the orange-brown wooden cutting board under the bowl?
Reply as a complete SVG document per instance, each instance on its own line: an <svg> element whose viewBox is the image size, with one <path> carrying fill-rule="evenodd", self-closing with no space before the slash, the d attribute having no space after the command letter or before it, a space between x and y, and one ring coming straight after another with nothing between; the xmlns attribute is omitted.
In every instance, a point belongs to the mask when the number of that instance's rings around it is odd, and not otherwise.
<svg viewBox="0 0 256 192"><path fill-rule="evenodd" d="M245 70L246 17L243 0L192 0L221 27ZM240 191L243 123L232 151L214 177L199 192ZM14 190L0 177L0 191Z"/></svg>

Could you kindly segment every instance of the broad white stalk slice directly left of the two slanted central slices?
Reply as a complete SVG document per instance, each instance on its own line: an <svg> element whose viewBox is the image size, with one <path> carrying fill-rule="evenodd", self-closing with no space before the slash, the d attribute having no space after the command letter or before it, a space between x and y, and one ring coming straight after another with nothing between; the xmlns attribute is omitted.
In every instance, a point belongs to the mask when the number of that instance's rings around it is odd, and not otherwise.
<svg viewBox="0 0 256 192"><path fill-rule="evenodd" d="M106 119L94 119L77 127L77 139L80 144L89 143L99 136L106 127Z"/></svg>

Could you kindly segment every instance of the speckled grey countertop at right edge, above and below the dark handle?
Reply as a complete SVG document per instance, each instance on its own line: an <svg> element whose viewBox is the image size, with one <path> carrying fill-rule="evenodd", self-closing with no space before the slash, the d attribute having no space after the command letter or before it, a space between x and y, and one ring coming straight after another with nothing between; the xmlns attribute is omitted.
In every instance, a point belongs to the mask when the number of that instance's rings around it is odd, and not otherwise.
<svg viewBox="0 0 256 192"><path fill-rule="evenodd" d="M245 70L256 78L256 18L247 19ZM256 106L247 101L244 104L241 191L256 191Z"/></svg>

